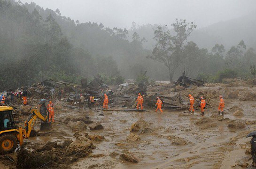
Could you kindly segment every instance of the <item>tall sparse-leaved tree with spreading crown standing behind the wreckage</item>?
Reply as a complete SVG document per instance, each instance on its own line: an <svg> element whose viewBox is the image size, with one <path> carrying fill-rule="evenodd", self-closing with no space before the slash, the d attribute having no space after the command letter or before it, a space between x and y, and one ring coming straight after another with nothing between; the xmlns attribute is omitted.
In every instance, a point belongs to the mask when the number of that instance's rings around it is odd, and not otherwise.
<svg viewBox="0 0 256 169"><path fill-rule="evenodd" d="M165 30L163 27L158 26L155 30L156 40L153 55L147 58L154 59L164 64L169 69L170 81L178 66L182 63L182 52L184 51L184 43L196 25L191 22L187 23L186 20L178 20L171 24L176 35L171 36L170 30Z"/></svg>

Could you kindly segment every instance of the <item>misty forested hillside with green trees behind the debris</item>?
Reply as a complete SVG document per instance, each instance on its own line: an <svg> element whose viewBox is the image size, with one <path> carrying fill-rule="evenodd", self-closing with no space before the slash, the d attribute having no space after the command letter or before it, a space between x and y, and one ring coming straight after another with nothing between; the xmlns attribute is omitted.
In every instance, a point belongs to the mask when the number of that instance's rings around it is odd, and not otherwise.
<svg viewBox="0 0 256 169"><path fill-rule="evenodd" d="M145 71L154 80L175 80L184 70L188 76L209 82L220 82L224 77L253 77L254 38L250 44L242 38L221 44L218 39L204 37L205 33L194 25L177 45L177 37L184 26L189 26L185 21L175 27L182 22L173 21L169 27L132 23L129 29L112 29L102 23L72 20L62 16L59 9L0 0L0 90L45 79L91 79L98 73L108 84L120 83L124 78L135 79ZM169 57L166 60L159 46L161 33L173 43L165 53ZM209 47L214 40L214 45ZM230 41L232 44L227 43ZM167 61L172 64L168 66ZM172 70L174 65L175 70Z"/></svg>

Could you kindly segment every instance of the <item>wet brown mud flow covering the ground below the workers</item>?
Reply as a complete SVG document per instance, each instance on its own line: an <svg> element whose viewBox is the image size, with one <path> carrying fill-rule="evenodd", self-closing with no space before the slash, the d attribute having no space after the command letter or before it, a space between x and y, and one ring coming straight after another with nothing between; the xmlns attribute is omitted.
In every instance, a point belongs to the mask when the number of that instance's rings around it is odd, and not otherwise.
<svg viewBox="0 0 256 169"><path fill-rule="evenodd" d="M199 110L195 114L182 113L183 111L164 110L155 113L153 109L146 112L105 111L99 116L99 110L65 109L55 111L55 123L51 132L41 133L39 136L25 140L25 147L35 149L47 141L61 142L64 139L75 140L69 126L64 124L67 116L89 116L94 123L101 123L104 129L91 131L89 126L80 130L84 135L101 135L103 141L93 141L95 149L88 157L80 158L77 162L67 164L72 169L233 169L246 168L251 163L249 132L256 130L254 96L243 99L244 93L253 93L256 87L208 85L206 87L186 89L181 94L192 93L200 95L207 92L211 96L213 108L208 106L205 116ZM237 91L236 96L228 96L229 92ZM168 93L168 92L167 92ZM205 93L204 93L205 94ZM168 94L167 94L168 95ZM225 108L224 118L218 117L218 96L223 95ZM227 98L227 97L232 97ZM244 101L245 100L245 101ZM234 116L236 111L242 112ZM149 131L138 134L140 140L129 141L133 123L143 119L149 124ZM228 125L230 127L228 127ZM234 128L234 126L236 128ZM36 130L38 130L37 123ZM139 158L138 163L126 162L120 154L132 152ZM14 157L15 154L9 154ZM0 158L0 168L12 167L7 159ZM9 163L11 163L9 161ZM1 166L2 165L2 166ZM47 166L51 167L51 166ZM62 166L63 167L63 166Z"/></svg>

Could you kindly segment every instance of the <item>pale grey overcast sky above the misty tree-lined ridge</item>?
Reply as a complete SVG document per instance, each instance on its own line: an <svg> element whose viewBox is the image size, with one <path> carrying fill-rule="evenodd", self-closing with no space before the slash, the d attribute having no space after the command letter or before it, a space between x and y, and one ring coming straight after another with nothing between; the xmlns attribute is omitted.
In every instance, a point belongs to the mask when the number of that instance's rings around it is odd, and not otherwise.
<svg viewBox="0 0 256 169"><path fill-rule="evenodd" d="M137 24L171 25L175 18L195 22L199 28L253 12L256 0L21 0L61 11L80 22L102 22L113 28Z"/></svg>

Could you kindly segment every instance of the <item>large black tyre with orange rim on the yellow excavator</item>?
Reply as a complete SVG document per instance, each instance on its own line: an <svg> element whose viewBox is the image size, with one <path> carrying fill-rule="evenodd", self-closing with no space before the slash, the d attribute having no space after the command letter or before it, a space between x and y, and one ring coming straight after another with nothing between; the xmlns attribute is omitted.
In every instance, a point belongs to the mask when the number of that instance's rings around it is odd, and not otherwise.
<svg viewBox="0 0 256 169"><path fill-rule="evenodd" d="M0 136L0 154L14 152L17 147L17 138L13 134L3 134Z"/></svg>

